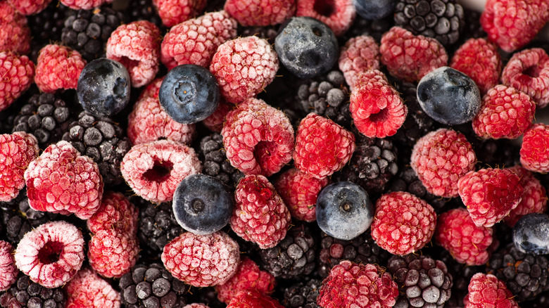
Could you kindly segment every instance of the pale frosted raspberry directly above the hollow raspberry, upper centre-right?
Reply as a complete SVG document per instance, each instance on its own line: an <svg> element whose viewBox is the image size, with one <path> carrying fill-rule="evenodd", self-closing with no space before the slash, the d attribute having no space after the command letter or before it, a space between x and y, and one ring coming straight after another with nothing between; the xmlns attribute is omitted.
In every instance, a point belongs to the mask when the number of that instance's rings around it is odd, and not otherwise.
<svg viewBox="0 0 549 308"><path fill-rule="evenodd" d="M379 70L379 45L373 37L361 35L349 39L339 53L339 70L353 91L358 76L367 70Z"/></svg>

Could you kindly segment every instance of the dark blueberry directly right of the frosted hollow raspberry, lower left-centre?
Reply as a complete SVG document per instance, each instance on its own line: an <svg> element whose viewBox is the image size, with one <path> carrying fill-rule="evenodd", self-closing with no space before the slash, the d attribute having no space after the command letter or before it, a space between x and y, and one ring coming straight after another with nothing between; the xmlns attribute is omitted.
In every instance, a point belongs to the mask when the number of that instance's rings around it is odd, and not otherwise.
<svg viewBox="0 0 549 308"><path fill-rule="evenodd" d="M215 177L193 174L177 186L173 212L183 229L198 235L214 233L229 222L232 195Z"/></svg>

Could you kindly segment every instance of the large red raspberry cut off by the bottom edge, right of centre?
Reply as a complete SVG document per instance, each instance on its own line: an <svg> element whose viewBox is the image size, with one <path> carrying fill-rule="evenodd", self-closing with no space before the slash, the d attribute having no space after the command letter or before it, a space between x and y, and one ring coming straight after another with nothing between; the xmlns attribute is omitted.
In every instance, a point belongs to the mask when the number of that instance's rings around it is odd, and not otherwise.
<svg viewBox="0 0 549 308"><path fill-rule="evenodd" d="M343 260L322 281L317 303L323 308L393 307L398 285L374 264Z"/></svg>

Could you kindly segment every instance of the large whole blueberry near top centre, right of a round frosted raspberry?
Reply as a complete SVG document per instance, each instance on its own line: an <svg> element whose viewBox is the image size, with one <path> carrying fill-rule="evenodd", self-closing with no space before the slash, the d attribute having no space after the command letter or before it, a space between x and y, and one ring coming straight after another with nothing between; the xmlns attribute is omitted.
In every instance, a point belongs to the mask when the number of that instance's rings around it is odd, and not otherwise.
<svg viewBox="0 0 549 308"><path fill-rule="evenodd" d="M280 63L300 78L310 78L329 71L339 57L334 32L320 20L292 17L274 39Z"/></svg>

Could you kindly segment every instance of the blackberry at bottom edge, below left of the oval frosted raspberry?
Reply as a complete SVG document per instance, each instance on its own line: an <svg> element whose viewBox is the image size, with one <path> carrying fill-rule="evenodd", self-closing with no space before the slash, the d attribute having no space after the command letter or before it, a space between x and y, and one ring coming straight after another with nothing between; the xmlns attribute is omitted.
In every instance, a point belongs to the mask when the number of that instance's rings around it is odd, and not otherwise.
<svg viewBox="0 0 549 308"><path fill-rule="evenodd" d="M189 287L173 278L162 264L136 265L120 278L120 296L127 308L182 308Z"/></svg>

